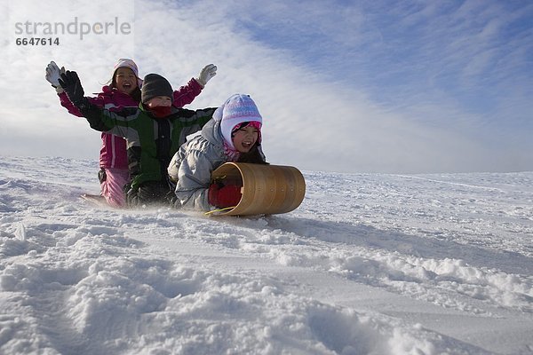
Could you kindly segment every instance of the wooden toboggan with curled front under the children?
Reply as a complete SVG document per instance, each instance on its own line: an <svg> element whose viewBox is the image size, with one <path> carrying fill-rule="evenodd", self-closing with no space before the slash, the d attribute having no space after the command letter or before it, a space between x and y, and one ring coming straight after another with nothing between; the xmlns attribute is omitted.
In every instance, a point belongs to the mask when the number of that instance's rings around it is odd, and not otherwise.
<svg viewBox="0 0 533 355"><path fill-rule="evenodd" d="M241 201L217 210L216 216L287 213L298 208L306 194L306 180L290 166L226 162L211 173L211 181L242 186Z"/></svg>

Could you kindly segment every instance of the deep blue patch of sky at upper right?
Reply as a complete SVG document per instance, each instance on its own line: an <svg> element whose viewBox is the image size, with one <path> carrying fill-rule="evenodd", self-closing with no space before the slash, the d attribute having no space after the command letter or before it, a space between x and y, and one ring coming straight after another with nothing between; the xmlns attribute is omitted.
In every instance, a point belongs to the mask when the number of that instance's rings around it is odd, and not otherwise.
<svg viewBox="0 0 533 355"><path fill-rule="evenodd" d="M530 97L533 4L353 3L261 8L240 22L255 40L383 105L454 100L490 115L507 99Z"/></svg>

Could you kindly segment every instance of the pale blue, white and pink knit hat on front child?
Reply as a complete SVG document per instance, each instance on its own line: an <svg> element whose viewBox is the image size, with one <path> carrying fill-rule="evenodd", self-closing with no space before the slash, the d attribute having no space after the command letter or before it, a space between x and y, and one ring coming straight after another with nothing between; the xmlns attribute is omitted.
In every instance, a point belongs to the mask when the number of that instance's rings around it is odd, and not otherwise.
<svg viewBox="0 0 533 355"><path fill-rule="evenodd" d="M235 149L232 140L232 133L235 126L240 126L243 122L251 122L250 125L259 131L263 124L263 117L259 114L258 106L249 95L235 94L226 100L222 107L222 120L220 121L220 131L227 145ZM258 141L260 142L260 135Z"/></svg>

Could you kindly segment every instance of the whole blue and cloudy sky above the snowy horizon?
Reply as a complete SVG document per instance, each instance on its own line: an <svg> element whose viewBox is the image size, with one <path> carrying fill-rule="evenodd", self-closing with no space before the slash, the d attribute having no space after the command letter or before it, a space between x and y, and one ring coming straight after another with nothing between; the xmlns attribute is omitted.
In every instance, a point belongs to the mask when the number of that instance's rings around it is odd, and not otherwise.
<svg viewBox="0 0 533 355"><path fill-rule="evenodd" d="M59 105L44 68L54 60L76 70L91 95L117 59L131 58L140 75L161 74L174 87L217 65L187 108L250 94L264 117L263 150L275 164L335 172L533 170L529 1L0 6L0 154L98 160L99 132ZM44 33L45 23L71 27ZM60 44L16 44L34 36Z"/></svg>

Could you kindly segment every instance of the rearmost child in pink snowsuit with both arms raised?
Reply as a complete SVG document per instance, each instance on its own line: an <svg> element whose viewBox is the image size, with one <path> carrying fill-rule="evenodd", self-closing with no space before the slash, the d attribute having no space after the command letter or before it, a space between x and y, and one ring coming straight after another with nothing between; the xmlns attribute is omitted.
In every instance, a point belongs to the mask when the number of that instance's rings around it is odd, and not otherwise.
<svg viewBox="0 0 533 355"><path fill-rule="evenodd" d="M190 104L202 92L205 84L216 75L217 67L210 64L203 67L197 79L191 79L186 86L181 86L173 92L173 106L179 108ZM52 61L46 67L46 80L52 83L60 97L61 106L68 109L70 114L82 116L74 106L58 80L65 68L60 68ZM113 75L109 85L102 87L102 92L89 101L99 107L111 111L120 111L124 107L137 107L140 101L139 70L131 59L118 59L113 68ZM122 137L103 132L101 135L102 147L99 154L99 182L101 195L113 207L125 206L123 186L130 181L128 170L128 157L126 154L126 141Z"/></svg>

